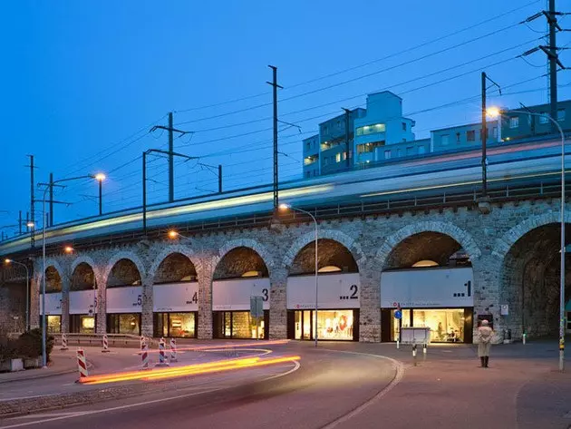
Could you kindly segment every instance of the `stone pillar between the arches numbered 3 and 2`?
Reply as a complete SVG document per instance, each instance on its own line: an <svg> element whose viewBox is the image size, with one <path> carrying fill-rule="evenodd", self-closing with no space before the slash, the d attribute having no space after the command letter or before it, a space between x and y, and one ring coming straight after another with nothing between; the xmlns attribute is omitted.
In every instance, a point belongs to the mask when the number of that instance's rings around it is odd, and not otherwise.
<svg viewBox="0 0 571 429"><path fill-rule="evenodd" d="M287 269L270 271L269 339L287 337Z"/></svg>

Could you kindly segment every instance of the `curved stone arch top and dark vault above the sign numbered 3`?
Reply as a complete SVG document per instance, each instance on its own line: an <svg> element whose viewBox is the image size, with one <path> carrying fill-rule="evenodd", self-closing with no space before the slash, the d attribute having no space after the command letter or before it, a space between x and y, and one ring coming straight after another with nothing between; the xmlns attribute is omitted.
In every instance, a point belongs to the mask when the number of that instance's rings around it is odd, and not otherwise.
<svg viewBox="0 0 571 429"><path fill-rule="evenodd" d="M269 277L270 268L274 265L266 247L254 239L228 241L219 249L214 262L214 279L238 278L247 271L259 271L262 277Z"/></svg>

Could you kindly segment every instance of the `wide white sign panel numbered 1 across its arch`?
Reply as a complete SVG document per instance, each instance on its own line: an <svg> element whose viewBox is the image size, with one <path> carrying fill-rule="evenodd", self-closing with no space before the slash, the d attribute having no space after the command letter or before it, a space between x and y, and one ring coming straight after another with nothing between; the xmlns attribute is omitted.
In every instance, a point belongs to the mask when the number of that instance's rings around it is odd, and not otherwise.
<svg viewBox="0 0 571 429"><path fill-rule="evenodd" d="M381 307L474 307L472 268L413 268L385 271Z"/></svg>

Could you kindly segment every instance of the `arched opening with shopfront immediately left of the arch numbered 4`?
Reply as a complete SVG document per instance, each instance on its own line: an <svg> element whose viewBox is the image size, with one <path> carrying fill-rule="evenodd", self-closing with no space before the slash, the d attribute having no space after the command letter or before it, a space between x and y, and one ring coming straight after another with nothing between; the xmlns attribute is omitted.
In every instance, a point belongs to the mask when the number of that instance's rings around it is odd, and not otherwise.
<svg viewBox="0 0 571 429"><path fill-rule="evenodd" d="M106 285L107 332L140 336L142 287L139 268L131 260L115 262Z"/></svg>

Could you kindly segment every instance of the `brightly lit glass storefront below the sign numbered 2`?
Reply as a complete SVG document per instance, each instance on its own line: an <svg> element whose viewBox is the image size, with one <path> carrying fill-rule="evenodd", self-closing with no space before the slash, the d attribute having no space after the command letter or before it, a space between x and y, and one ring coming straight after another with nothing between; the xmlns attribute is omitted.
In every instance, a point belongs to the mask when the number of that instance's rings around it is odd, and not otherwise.
<svg viewBox="0 0 571 429"><path fill-rule="evenodd" d="M358 339L359 310L319 310L318 339L354 341ZM315 311L296 310L288 313L288 337L314 339ZM293 323L292 323L293 322ZM292 326L293 325L293 326Z"/></svg>

